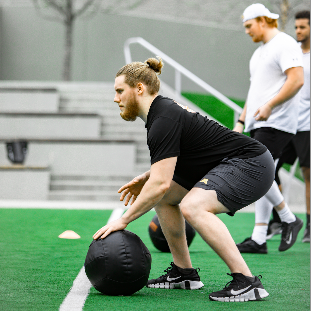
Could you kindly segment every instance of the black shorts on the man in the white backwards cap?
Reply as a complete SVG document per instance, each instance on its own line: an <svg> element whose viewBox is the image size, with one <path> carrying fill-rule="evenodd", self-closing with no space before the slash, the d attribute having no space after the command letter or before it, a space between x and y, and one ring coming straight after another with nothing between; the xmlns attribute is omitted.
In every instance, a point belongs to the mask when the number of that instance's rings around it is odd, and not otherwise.
<svg viewBox="0 0 311 311"><path fill-rule="evenodd" d="M276 128L256 128L251 130L250 135L268 148L273 160L280 158L283 149L294 137L294 134Z"/></svg>

